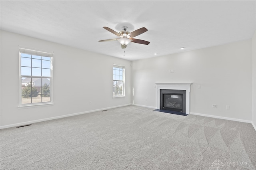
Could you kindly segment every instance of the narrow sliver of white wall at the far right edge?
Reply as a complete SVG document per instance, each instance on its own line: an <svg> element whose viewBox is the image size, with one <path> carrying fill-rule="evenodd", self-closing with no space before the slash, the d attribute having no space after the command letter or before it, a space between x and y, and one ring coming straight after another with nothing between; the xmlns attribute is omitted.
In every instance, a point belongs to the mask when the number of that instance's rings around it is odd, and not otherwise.
<svg viewBox="0 0 256 170"><path fill-rule="evenodd" d="M252 37L252 125L256 130L256 31Z"/></svg>

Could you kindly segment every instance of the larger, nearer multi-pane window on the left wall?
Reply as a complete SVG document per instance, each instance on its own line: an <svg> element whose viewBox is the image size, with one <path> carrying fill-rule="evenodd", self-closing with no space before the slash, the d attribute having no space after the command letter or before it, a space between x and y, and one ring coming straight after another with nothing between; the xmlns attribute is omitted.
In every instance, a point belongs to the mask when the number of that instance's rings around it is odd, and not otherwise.
<svg viewBox="0 0 256 170"><path fill-rule="evenodd" d="M53 54L20 48L19 106L52 103Z"/></svg>

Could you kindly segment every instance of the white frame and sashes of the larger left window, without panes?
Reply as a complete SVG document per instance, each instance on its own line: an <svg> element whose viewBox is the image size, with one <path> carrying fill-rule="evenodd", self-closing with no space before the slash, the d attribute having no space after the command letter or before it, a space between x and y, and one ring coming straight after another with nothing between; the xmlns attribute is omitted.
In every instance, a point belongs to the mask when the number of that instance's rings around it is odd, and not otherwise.
<svg viewBox="0 0 256 170"><path fill-rule="evenodd" d="M30 54L30 55L38 55L38 56L43 56L43 57L50 57L50 61L51 61L50 77L21 75L21 53L26 53L26 54ZM50 79L50 101L49 102L40 102L40 103L22 104L22 77L49 78ZM19 46L19 105L18 105L18 108L22 109L22 108L28 108L28 107L40 107L40 106L53 105L53 104L54 104L53 103L53 52Z"/></svg>

